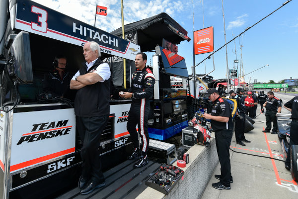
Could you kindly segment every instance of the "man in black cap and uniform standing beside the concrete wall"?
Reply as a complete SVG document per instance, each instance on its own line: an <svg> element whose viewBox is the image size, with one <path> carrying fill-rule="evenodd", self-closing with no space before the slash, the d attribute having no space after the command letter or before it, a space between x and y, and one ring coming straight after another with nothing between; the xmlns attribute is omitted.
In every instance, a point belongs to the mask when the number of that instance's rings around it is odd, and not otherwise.
<svg viewBox="0 0 298 199"><path fill-rule="evenodd" d="M216 149L221 164L221 175L215 175L220 182L213 183L212 187L219 190L230 190L231 164L229 159L229 147L232 139L233 121L229 103L220 97L216 89L209 89L205 97L213 101L211 115L204 113L203 117L211 119L211 126L215 130Z"/></svg>

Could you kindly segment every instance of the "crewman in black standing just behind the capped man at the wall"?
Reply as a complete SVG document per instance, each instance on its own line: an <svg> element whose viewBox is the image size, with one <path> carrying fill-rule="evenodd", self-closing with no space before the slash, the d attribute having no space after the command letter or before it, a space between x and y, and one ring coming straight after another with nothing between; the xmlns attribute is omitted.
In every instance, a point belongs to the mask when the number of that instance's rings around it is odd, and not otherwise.
<svg viewBox="0 0 298 199"><path fill-rule="evenodd" d="M243 94L244 94L244 89L238 88L237 95L235 96L235 100L237 101L237 112L234 119L235 119L236 143L242 146L245 146L243 142L250 143L250 141L245 139L245 136L244 136L246 108L244 105L244 100L242 98Z"/></svg>

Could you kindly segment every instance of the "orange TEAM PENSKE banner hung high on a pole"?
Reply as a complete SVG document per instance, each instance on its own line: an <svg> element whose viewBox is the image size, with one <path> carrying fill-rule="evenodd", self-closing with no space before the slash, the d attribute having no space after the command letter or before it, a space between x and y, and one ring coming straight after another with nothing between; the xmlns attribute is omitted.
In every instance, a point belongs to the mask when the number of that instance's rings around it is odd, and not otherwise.
<svg viewBox="0 0 298 199"><path fill-rule="evenodd" d="M213 26L197 30L194 35L195 55L214 51Z"/></svg>

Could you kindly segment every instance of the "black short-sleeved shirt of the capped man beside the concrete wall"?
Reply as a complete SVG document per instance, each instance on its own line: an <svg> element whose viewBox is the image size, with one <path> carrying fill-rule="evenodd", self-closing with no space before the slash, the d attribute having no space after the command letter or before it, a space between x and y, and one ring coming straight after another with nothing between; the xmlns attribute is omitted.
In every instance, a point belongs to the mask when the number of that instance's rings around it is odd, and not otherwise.
<svg viewBox="0 0 298 199"><path fill-rule="evenodd" d="M233 129L233 121L231 115L231 108L229 103L223 98L219 97L213 102L213 107L211 110L212 116L223 116L228 117L228 122L220 122L211 119L211 126L215 131L220 130L231 130Z"/></svg>

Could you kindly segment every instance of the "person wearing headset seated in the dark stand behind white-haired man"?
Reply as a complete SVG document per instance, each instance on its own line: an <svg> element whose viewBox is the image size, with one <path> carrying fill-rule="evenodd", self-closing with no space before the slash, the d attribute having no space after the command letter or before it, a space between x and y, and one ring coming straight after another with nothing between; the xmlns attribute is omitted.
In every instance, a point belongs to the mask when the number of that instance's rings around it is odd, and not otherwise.
<svg viewBox="0 0 298 199"><path fill-rule="evenodd" d="M53 70L45 73L42 82L43 92L52 97L62 97L69 90L72 76L66 71L67 59L57 55L52 63Z"/></svg>

